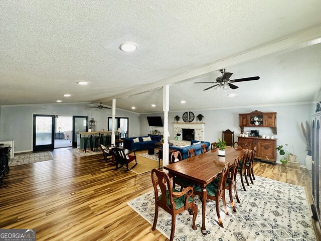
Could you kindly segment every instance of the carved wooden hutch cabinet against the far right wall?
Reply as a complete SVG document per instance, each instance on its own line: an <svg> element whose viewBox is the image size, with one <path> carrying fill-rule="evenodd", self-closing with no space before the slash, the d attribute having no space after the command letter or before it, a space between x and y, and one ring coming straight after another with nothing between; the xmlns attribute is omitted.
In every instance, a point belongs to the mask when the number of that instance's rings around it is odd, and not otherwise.
<svg viewBox="0 0 321 241"><path fill-rule="evenodd" d="M269 127L273 134L276 134L276 112L253 111L242 113L240 116L241 132L244 127ZM255 158L276 163L276 140L265 139L260 137L238 137L238 141L245 143L246 148L253 149L256 147Z"/></svg>

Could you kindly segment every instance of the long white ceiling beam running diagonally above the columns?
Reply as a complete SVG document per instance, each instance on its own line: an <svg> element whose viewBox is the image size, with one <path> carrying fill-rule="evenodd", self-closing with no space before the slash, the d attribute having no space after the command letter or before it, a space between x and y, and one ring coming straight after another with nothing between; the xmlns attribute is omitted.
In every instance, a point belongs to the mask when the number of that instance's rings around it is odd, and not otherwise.
<svg viewBox="0 0 321 241"><path fill-rule="evenodd" d="M146 84L143 87L140 88L135 88L114 96L102 98L102 99L97 99L92 102L107 102L112 99L119 99L119 98L126 98L128 96L152 91L157 88L162 88L164 85L171 85L175 84L178 82L185 81L187 79L197 77L199 75L203 75L209 72L213 72L215 70L219 70L221 68L227 68L229 66L239 64L246 62L248 60L252 60L255 58L259 58L262 56L266 56L269 54L273 53L286 53L286 52L291 52L297 49L301 49L304 47L308 47L314 44L319 44L321 43L321 25L318 25L314 28L305 30L304 32L299 32L295 35L289 36L285 39L282 39L280 41L274 42L272 44L266 45L266 46L261 46L256 49L253 49L251 51L248 51L246 53L241 53L239 55L235 55L231 58L225 59L218 61L216 63L203 66L197 69L194 69L190 72L186 72L183 74L178 74L175 76L171 76L169 78L165 78L162 80L159 80L155 83L152 84Z"/></svg>

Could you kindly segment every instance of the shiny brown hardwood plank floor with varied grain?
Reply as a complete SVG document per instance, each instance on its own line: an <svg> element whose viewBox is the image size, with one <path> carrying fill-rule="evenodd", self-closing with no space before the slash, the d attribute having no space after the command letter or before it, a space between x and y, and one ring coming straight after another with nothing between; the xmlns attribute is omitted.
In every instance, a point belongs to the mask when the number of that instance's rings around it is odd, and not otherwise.
<svg viewBox="0 0 321 241"><path fill-rule="evenodd" d="M68 149L52 155L54 161L11 167L0 188L0 228L36 228L37 240L167 239L127 205L152 190L150 172L112 170L100 155L77 158ZM254 173L305 186L310 197L305 169L255 163Z"/></svg>

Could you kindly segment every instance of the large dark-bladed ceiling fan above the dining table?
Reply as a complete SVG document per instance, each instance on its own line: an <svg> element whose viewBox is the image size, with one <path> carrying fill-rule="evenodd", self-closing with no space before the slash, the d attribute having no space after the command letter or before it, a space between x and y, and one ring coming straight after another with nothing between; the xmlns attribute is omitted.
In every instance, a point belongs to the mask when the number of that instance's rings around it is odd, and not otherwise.
<svg viewBox="0 0 321 241"><path fill-rule="evenodd" d="M247 78L242 78L242 79L230 79L233 73L225 72L226 69L220 69L220 72L222 73L222 76L216 78L216 82L194 82L194 84L203 84L203 83L213 83L211 87L208 87L203 90L208 90L213 87L221 87L227 89L230 87L231 89L237 89L238 86L232 84L235 82L243 82L243 81L249 81L249 80L258 80L260 77L259 76L254 76L254 77L247 77Z"/></svg>

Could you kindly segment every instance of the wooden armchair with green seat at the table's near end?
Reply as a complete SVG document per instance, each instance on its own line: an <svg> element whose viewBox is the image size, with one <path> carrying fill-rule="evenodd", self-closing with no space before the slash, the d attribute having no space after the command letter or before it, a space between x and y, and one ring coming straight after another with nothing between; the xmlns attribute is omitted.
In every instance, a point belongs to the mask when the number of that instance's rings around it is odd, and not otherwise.
<svg viewBox="0 0 321 241"><path fill-rule="evenodd" d="M197 229L195 225L195 220L197 216L197 205L195 204L193 195L193 188L185 188L183 192L172 188L170 177L162 171L157 169L152 169L151 171L151 181L154 188L155 194L155 215L154 221L152 224L152 230L155 230L158 218L158 207L163 208L165 211L172 215L172 229L170 241L174 238L175 232L175 221L176 214L181 213L189 209L190 215L193 214L193 224L192 228ZM158 194L158 187L161 191L160 195Z"/></svg>

